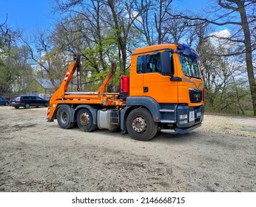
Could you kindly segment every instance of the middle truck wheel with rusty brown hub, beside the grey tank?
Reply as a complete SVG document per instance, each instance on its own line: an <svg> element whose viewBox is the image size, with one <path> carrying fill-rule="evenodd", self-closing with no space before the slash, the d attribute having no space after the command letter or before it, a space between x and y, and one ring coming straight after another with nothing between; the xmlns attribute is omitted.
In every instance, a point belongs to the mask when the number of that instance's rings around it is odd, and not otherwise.
<svg viewBox="0 0 256 207"><path fill-rule="evenodd" d="M92 113L86 108L78 110L76 123L83 132L92 132L97 128L97 124L93 124Z"/></svg>

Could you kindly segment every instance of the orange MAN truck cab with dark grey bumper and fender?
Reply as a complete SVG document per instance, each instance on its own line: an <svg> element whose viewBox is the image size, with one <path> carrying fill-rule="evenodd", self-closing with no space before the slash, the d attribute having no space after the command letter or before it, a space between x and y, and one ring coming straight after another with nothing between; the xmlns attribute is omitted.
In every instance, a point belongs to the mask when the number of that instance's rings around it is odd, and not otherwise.
<svg viewBox="0 0 256 207"><path fill-rule="evenodd" d="M186 133L201 126L204 89L195 50L184 44L138 48L129 78L127 107L149 109L162 132Z"/></svg>

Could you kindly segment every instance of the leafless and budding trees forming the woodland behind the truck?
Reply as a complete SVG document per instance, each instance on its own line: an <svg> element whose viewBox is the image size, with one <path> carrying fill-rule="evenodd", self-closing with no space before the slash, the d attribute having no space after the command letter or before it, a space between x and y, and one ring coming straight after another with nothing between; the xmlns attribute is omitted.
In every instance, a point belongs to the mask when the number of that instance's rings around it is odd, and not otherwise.
<svg viewBox="0 0 256 207"><path fill-rule="evenodd" d="M206 0L200 10L181 10L177 1L53 0L53 27L30 35L11 27L6 14L0 96L26 94L33 78L47 78L57 89L73 52L81 54L82 91L95 91L115 61L110 90L118 92L132 50L181 43L201 57L206 112L256 115L256 0ZM74 77L71 90L76 83Z"/></svg>

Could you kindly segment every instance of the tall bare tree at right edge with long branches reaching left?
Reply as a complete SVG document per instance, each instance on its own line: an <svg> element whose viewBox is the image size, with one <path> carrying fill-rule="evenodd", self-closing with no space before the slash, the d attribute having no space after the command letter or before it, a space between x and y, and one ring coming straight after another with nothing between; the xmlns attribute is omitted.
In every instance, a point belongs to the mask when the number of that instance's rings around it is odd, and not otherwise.
<svg viewBox="0 0 256 207"><path fill-rule="evenodd" d="M227 41L233 41L238 44L238 50L224 55L245 55L246 71L249 80L249 87L252 96L252 105L254 115L256 115L256 83L255 72L253 68L252 55L256 49L255 42L252 42L255 28L255 0L218 0L218 9L215 13L220 16L211 18L186 16L179 14L173 17L186 18L189 20L200 20L202 23L214 24L217 26L232 26L234 35L231 38L225 38ZM233 20L238 19L238 20ZM244 49L241 49L243 45Z"/></svg>

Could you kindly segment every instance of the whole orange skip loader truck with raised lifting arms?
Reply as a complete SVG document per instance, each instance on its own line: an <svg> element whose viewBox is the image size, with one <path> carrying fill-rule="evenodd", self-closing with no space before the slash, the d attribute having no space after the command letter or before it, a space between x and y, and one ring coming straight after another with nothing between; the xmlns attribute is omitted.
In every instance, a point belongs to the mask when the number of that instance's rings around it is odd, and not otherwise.
<svg viewBox="0 0 256 207"><path fill-rule="evenodd" d="M129 75L120 92L107 92L116 64L95 92L68 92L80 60L70 63L60 87L50 98L47 121L63 129L75 123L84 132L121 129L135 140L150 140L158 131L187 133L201 126L205 92L199 56L185 44L159 44L132 52Z"/></svg>

